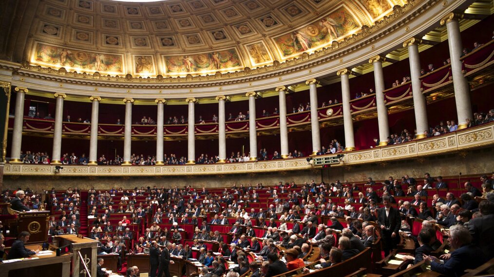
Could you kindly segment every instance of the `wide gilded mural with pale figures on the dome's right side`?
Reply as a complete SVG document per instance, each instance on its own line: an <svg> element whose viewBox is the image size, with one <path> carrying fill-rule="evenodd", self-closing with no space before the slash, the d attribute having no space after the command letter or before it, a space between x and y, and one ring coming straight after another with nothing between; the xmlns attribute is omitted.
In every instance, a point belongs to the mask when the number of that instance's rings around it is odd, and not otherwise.
<svg viewBox="0 0 494 277"><path fill-rule="evenodd" d="M361 27L356 17L345 6L340 6L309 25L275 37L274 41L283 58L287 59L304 51L328 45L333 40L360 30Z"/></svg>

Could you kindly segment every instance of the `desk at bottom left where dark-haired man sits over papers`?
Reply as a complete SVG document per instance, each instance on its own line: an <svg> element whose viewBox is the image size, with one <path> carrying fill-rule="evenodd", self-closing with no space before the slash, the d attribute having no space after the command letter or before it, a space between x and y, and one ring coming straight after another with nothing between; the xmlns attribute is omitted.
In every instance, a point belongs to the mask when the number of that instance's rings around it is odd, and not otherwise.
<svg viewBox="0 0 494 277"><path fill-rule="evenodd" d="M41 249L42 244L26 245L33 251ZM0 277L69 277L72 253L56 256L56 247L50 245L53 251L47 255L31 255L22 261L0 264Z"/></svg>

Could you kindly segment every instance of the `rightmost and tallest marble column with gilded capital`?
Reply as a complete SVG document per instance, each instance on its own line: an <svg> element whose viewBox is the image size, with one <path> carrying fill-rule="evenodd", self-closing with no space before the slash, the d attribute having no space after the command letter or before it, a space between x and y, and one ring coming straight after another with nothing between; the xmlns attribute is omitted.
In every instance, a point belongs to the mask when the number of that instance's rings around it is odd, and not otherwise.
<svg viewBox="0 0 494 277"><path fill-rule="evenodd" d="M458 130L467 127L466 119L474 120L472 105L470 104L470 88L461 70L461 44L460 27L458 20L462 14L449 13L441 19L441 25L446 24L448 31L448 45L450 47L451 73L453 75L454 101L456 103L456 114L458 115Z"/></svg>

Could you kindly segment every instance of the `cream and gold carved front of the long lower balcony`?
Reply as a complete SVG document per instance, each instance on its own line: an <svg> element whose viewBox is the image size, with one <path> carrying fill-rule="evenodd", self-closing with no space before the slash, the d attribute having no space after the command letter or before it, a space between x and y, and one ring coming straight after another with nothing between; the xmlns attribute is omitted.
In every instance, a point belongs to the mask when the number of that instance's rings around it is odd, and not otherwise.
<svg viewBox="0 0 494 277"><path fill-rule="evenodd" d="M494 145L494 122L463 129L446 135L417 139L406 143L375 147L365 150L343 152L343 159L331 167L359 165L394 160L406 160L438 154L451 154L460 150L492 147ZM330 155L328 155L330 156ZM334 155L336 156L336 155ZM321 157L321 156L318 156ZM5 164L5 175L57 175L57 176L160 176L160 175L204 175L238 174L309 170L313 168L307 158L272 161L226 163L210 165L177 166L83 166Z"/></svg>

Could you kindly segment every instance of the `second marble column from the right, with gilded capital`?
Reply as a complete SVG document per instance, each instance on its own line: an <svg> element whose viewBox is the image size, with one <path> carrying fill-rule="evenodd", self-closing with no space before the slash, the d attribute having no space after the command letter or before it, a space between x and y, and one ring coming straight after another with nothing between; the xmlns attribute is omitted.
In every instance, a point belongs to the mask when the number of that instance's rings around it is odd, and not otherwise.
<svg viewBox="0 0 494 277"><path fill-rule="evenodd" d="M427 123L427 107L425 96L422 94L420 82L420 56L418 54L418 44L420 38L411 37L403 42L403 47L408 48L410 61L410 76L412 78L413 109L415 111L415 129L417 130L416 138L425 138L425 131L429 130Z"/></svg>

